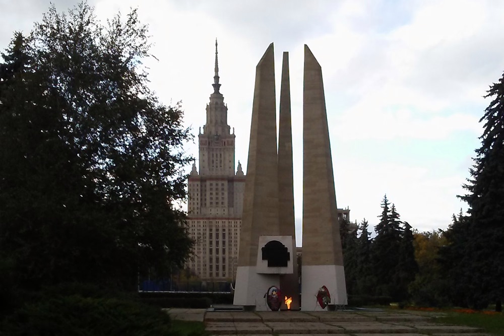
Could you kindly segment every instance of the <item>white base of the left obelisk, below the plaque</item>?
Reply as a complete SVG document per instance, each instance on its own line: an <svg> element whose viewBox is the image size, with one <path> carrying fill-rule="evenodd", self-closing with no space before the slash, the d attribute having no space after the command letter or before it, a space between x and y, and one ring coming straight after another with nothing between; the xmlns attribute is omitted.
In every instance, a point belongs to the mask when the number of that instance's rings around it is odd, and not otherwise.
<svg viewBox="0 0 504 336"><path fill-rule="evenodd" d="M271 286L280 288L280 275L258 274L256 266L238 266L233 304L255 306L252 309L257 311L271 310L264 297Z"/></svg>

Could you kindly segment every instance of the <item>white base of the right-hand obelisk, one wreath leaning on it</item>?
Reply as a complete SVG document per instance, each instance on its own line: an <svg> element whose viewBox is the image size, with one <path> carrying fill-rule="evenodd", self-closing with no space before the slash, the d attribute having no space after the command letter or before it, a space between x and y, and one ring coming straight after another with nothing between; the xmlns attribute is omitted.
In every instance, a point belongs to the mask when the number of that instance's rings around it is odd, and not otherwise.
<svg viewBox="0 0 504 336"><path fill-rule="evenodd" d="M317 303L317 293L326 286L331 295L331 305L348 304L345 270L340 265L301 266L301 310L327 310Z"/></svg>

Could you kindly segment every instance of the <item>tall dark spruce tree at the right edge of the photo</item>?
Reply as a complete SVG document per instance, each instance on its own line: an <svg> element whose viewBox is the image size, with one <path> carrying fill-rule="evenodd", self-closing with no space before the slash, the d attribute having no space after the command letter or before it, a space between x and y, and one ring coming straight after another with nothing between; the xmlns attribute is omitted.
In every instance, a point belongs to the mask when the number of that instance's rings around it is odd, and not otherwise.
<svg viewBox="0 0 504 336"><path fill-rule="evenodd" d="M477 308L488 302L499 307L504 298L504 75L485 98L492 101L479 120L484 123L481 147L475 151L471 178L464 185L467 194L460 196L469 205L469 216L453 226L468 237L462 257L467 269L465 292L474 294L468 302ZM461 244L460 240L452 245Z"/></svg>

